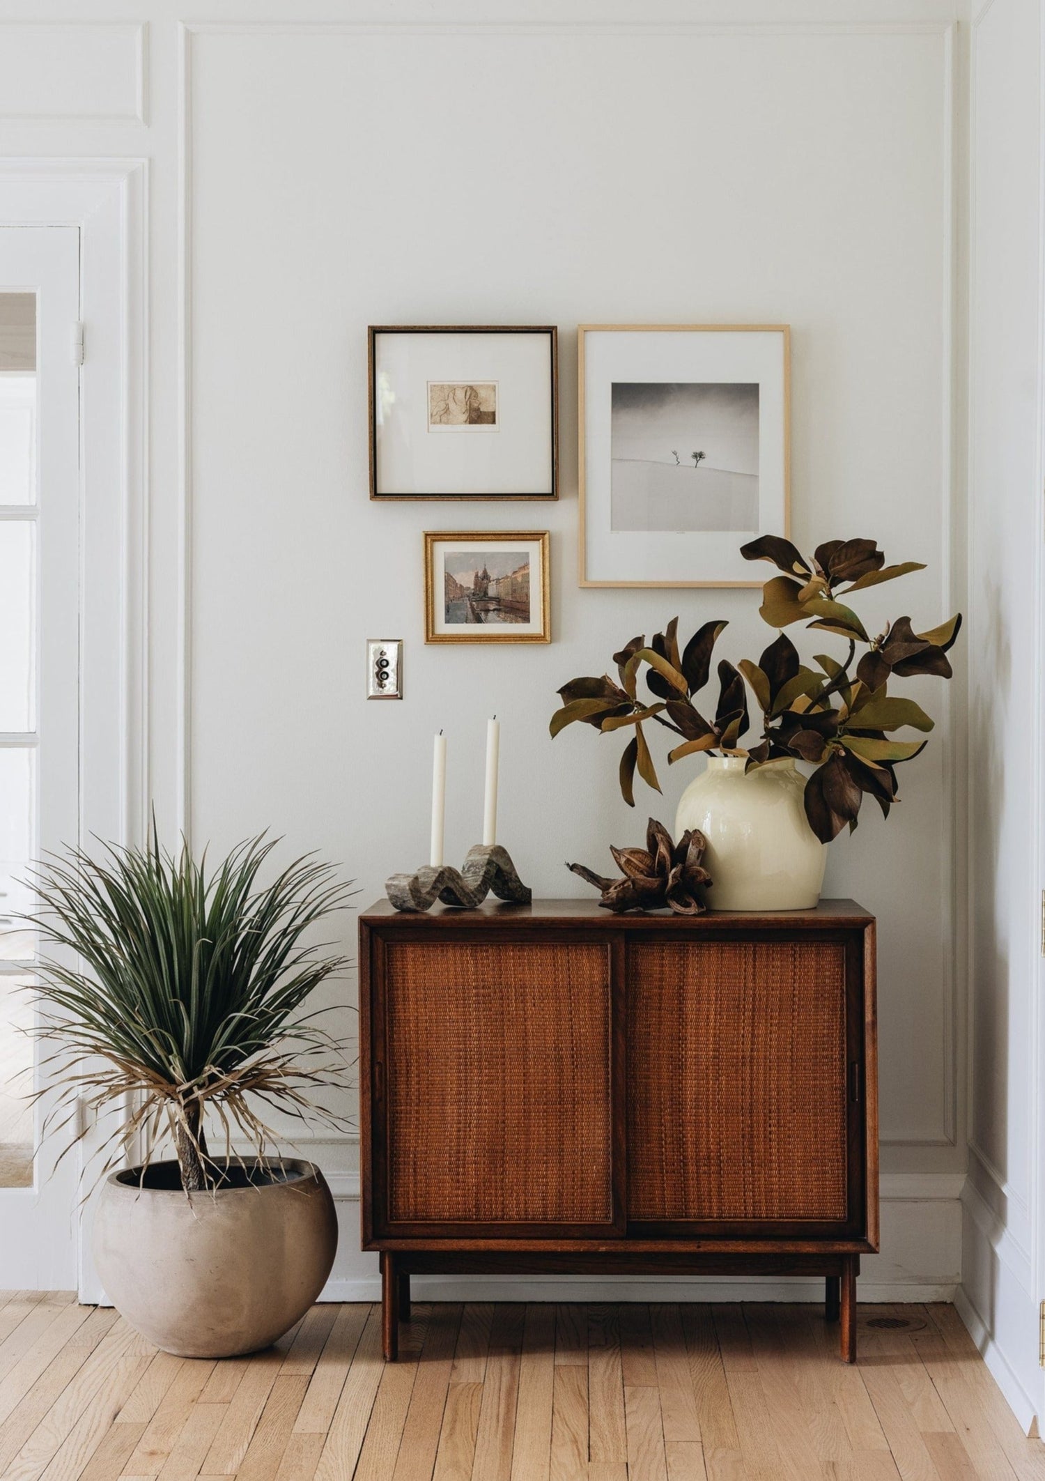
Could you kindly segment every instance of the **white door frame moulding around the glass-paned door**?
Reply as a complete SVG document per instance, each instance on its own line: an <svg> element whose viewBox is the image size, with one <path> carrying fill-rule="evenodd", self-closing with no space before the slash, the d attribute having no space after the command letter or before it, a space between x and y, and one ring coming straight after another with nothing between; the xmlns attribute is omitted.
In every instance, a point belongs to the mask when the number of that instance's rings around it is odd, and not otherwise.
<svg viewBox="0 0 1045 1481"><path fill-rule="evenodd" d="M80 228L78 843L141 841L148 812L148 310L145 160L0 160L0 225ZM80 1174L92 1157L81 1142ZM81 1300L101 1286L80 1217Z"/></svg>

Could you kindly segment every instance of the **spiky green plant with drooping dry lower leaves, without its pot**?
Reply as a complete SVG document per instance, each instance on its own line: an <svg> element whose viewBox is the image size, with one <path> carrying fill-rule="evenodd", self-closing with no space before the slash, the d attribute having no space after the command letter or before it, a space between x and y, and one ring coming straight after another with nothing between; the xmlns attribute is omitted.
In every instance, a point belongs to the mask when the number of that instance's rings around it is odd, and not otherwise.
<svg viewBox="0 0 1045 1481"><path fill-rule="evenodd" d="M108 1171L144 1143L148 1167L169 1136L182 1188L218 1186L234 1139L262 1158L274 1140L266 1106L339 1124L312 1099L345 1084L343 1046L302 1007L346 964L305 937L346 905L349 886L312 855L271 884L259 875L275 840L238 844L215 868L188 844L160 847L155 820L145 849L108 846L99 859L73 849L49 857L31 883L33 921L44 955L40 1026L58 1083L52 1130L68 1127L77 1100L104 1111L129 1097L130 1112L105 1142ZM207 1149L204 1115L224 1158Z"/></svg>

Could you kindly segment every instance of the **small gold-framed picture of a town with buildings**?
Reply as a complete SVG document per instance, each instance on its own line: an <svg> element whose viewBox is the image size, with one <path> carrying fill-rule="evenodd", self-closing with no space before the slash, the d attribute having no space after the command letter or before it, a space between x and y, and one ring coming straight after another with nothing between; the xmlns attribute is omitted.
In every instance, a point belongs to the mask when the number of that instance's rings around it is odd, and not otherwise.
<svg viewBox="0 0 1045 1481"><path fill-rule="evenodd" d="M425 535L426 643L551 643L548 530Z"/></svg>

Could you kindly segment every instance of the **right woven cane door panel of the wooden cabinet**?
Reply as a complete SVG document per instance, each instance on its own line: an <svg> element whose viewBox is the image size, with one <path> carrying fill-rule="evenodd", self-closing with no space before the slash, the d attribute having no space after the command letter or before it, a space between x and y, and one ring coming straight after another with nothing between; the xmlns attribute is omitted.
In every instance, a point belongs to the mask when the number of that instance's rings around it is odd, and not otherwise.
<svg viewBox="0 0 1045 1481"><path fill-rule="evenodd" d="M629 949L628 1213L845 1219L841 943Z"/></svg>

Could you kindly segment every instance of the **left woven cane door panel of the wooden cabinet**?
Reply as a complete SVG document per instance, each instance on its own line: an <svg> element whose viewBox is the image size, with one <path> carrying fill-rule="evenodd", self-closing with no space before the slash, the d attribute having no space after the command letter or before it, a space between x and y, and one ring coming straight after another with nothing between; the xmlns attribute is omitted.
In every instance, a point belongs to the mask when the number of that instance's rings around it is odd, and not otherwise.
<svg viewBox="0 0 1045 1481"><path fill-rule="evenodd" d="M388 946L392 1220L608 1223L608 952Z"/></svg>

